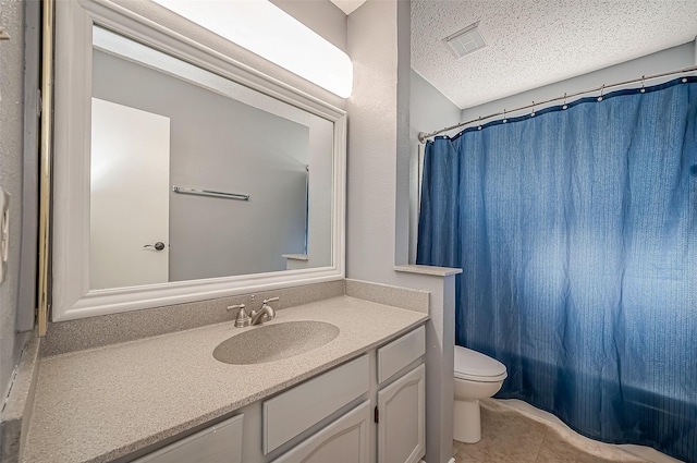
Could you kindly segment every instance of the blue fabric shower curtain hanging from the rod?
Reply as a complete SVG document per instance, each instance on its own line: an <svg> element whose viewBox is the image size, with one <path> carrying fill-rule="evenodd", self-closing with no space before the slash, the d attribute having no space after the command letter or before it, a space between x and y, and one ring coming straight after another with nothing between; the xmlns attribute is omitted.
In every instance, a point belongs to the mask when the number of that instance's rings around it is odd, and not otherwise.
<svg viewBox="0 0 697 463"><path fill-rule="evenodd" d="M498 398L697 462L697 78L429 142L417 263Z"/></svg>

